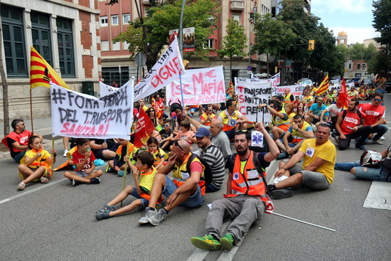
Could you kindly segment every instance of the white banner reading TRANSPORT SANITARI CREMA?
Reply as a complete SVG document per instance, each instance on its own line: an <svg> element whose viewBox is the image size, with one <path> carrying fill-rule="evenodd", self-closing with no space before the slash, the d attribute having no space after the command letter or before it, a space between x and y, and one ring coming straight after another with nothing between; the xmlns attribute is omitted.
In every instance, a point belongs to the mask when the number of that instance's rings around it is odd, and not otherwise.
<svg viewBox="0 0 391 261"><path fill-rule="evenodd" d="M269 104L270 95L272 95L271 85L271 82L237 82L238 110L250 122L271 121L272 114L269 110L266 107L258 108L258 105Z"/></svg>

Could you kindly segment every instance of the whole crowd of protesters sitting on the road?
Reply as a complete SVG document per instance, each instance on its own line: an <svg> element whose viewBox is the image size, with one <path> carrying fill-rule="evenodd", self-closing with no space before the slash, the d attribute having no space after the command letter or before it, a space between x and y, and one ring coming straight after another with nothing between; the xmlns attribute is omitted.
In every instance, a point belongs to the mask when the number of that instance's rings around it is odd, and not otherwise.
<svg viewBox="0 0 391 261"><path fill-rule="evenodd" d="M261 218L272 203L269 198L289 198L294 189L303 186L323 190L331 186L336 165L336 147L348 149L352 139L355 148L366 150L368 139L382 145L387 132L382 92L350 90L347 109L331 89L314 96L316 88L307 87L303 97L294 97L289 89L267 104L259 105L272 114L272 122L250 122L238 110L238 100L227 92L225 104L170 106L167 114L164 98L154 95L151 107L144 100L135 102L132 139L86 139L64 137L64 154L68 159L58 169L72 186L99 184L106 173L134 177L134 186L127 186L112 201L95 213L97 220L112 218L136 208L144 208L140 224L159 225L176 206L198 208L205 193L220 191L228 169L227 191L223 199L214 201L206 219L206 235L191 238L195 247L207 250L230 250L242 240L252 223ZM359 100L371 99L360 104ZM218 113L218 110L221 110ZM143 110L154 130L143 142L134 146L134 132L139 112ZM195 118L198 112L200 120ZM57 153L43 149L43 137L26 130L23 119L14 119L14 129L3 143L18 162L19 190L31 181L46 183L53 174ZM264 147L252 147L252 129L261 132ZM331 142L333 137L335 144ZM232 154L231 143L235 148ZM195 151L193 148L200 150ZM256 152L257 151L257 152ZM391 181L391 147L381 152L382 164L377 171L367 171L360 164L340 168L369 180ZM97 161L108 161L106 171L97 170ZM282 159L267 185L265 169L274 159ZM301 161L303 163L301 164ZM337 164L338 165L338 164ZM168 177L172 172L173 179ZM132 195L135 201L117 209L117 204ZM164 198L166 197L165 204ZM232 223L223 233L223 218Z"/></svg>

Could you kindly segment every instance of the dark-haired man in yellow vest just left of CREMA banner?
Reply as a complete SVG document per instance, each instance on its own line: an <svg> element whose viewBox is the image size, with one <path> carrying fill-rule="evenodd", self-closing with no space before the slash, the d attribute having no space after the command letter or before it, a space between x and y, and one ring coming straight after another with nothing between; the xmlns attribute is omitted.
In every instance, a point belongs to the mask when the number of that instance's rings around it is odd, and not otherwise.
<svg viewBox="0 0 391 261"><path fill-rule="evenodd" d="M227 134L228 138L232 139L237 130L247 129L248 119L237 110L237 101L227 100L225 106L227 109L218 114L218 119L223 122L223 132Z"/></svg>

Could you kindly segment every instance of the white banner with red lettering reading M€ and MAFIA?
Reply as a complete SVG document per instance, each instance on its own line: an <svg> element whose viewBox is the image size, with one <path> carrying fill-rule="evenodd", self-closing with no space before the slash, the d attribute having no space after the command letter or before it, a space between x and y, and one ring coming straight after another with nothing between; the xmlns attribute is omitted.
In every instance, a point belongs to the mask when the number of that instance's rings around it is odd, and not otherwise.
<svg viewBox="0 0 391 261"><path fill-rule="evenodd" d="M223 66L186 70L182 76L184 105L225 102ZM166 86L166 102L181 101L179 79Z"/></svg>

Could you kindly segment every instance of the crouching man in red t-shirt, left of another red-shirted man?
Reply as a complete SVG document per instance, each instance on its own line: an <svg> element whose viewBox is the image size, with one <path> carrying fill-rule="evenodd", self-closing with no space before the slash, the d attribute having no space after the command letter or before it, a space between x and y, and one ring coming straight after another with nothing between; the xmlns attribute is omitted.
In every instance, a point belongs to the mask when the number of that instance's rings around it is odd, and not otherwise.
<svg viewBox="0 0 391 261"><path fill-rule="evenodd" d="M358 99L350 100L348 110L343 110L338 116L336 130L339 134L338 149L341 151L349 147L351 139L357 139L356 149L365 150L365 140L372 128L364 126L364 119L357 109L359 103Z"/></svg>

